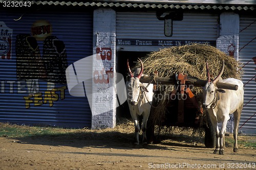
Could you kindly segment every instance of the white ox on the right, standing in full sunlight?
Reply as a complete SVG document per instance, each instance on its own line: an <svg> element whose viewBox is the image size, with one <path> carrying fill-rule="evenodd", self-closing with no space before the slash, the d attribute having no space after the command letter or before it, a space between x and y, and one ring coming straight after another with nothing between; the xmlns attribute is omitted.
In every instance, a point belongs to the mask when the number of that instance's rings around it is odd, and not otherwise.
<svg viewBox="0 0 256 170"><path fill-rule="evenodd" d="M238 125L240 121L241 112L244 102L244 89L242 81L238 79L228 78L221 79L224 71L224 60L222 70L219 75L213 80L210 80L208 63L206 63L207 83L203 87L203 107L207 109L212 126L216 130L216 149L214 153L224 154L225 147L225 132L229 114L233 113L234 116L234 147L233 152L238 152ZM230 83L238 85L238 90L223 90L216 86L218 80L223 83ZM221 130L219 131L218 123L222 123Z"/></svg>

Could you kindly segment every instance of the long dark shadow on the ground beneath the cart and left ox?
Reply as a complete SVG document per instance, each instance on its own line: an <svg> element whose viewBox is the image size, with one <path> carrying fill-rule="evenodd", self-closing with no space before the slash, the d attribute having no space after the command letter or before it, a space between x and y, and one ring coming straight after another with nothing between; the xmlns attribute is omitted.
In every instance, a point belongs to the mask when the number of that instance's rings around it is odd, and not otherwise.
<svg viewBox="0 0 256 170"><path fill-rule="evenodd" d="M142 138L142 135L140 135ZM183 136L184 137L184 136ZM166 149L169 146L179 147L192 147L192 148L204 148L199 145L193 145L186 142L180 142L180 140L192 140L187 136L184 138L172 137L172 141L163 141L159 144L147 144L147 145L134 145L133 133L121 133L121 132L69 132L58 135L45 135L37 134L29 137L16 137L12 138L13 141L19 143L38 144L38 145L51 145L51 146L68 146L74 148L95 147L95 148L113 148L113 149ZM167 139L166 136L162 137Z"/></svg>

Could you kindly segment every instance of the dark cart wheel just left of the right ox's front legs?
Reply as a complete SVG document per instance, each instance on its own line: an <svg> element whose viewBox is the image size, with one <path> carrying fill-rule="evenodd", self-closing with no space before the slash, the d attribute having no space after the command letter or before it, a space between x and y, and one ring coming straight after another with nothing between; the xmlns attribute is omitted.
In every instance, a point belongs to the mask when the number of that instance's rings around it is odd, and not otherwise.
<svg viewBox="0 0 256 170"><path fill-rule="evenodd" d="M207 114L208 127L205 128L204 144L206 148L216 147L216 132Z"/></svg>

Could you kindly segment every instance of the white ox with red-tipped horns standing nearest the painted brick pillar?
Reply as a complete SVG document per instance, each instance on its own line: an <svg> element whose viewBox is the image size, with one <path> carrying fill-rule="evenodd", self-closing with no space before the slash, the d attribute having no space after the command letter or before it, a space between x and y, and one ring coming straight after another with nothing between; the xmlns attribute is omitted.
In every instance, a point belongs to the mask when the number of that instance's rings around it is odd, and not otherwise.
<svg viewBox="0 0 256 170"><path fill-rule="evenodd" d="M140 125L139 120L140 116L143 116L143 121L141 125L143 140L142 143L146 144L146 123L148 116L150 115L150 109L153 99L153 84L147 86L147 83L141 83L140 78L143 75L143 63L141 63L141 69L139 74L137 72L132 74L132 71L129 66L129 61L127 60L127 68L129 70L129 76L126 78L126 92L127 92L127 102L129 104L129 109L131 116L133 118L134 127L135 127L135 144L139 144L139 132ZM138 69L137 69L138 70Z"/></svg>

